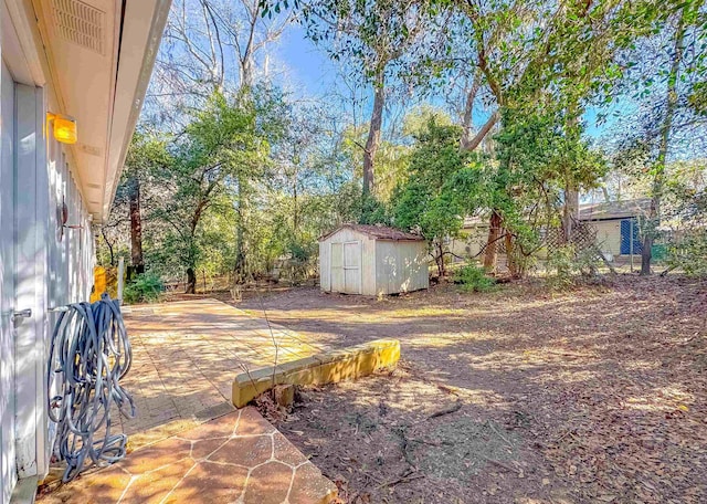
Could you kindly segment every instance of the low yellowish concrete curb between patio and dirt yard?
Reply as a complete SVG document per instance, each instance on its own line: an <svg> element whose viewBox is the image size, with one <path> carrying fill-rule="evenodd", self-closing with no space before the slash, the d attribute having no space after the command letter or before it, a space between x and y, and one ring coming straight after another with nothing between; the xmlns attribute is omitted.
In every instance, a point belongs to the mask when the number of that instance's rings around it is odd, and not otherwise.
<svg viewBox="0 0 707 504"><path fill-rule="evenodd" d="M399 340L376 339L275 367L241 372L233 380L232 402L236 408L243 408L276 385L325 385L356 379L378 369L394 367L399 359Z"/></svg>

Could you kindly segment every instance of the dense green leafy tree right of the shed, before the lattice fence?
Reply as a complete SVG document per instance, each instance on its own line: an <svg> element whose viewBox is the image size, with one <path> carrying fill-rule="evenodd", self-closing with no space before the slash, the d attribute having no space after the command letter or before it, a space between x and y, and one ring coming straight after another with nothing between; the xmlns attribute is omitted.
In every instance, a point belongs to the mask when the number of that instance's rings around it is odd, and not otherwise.
<svg viewBox="0 0 707 504"><path fill-rule="evenodd" d="M608 164L582 138L582 124L573 116L505 109L503 117L487 204L513 234L520 272L541 244L540 229L559 224L567 195L597 187Z"/></svg>

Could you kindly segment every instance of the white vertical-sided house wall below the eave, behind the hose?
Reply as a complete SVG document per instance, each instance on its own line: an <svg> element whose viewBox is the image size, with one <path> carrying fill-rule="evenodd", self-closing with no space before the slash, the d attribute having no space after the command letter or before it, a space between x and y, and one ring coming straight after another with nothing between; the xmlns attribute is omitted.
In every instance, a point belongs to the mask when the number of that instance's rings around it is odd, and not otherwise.
<svg viewBox="0 0 707 504"><path fill-rule="evenodd" d="M45 137L45 90L12 83L7 71L2 81L15 97L11 119L2 111L0 170L0 504L7 504L18 476L43 476L49 469L45 363L56 315L48 308L88 298L94 241L65 154ZM67 224L81 229L65 229L62 238L63 202ZM12 311L27 308L32 316L13 324Z"/></svg>

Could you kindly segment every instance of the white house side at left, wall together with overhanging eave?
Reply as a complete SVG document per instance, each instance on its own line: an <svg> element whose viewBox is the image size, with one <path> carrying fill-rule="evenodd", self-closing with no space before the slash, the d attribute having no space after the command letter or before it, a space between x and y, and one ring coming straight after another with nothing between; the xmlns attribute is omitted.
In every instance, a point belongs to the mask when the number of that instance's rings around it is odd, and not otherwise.
<svg viewBox="0 0 707 504"><path fill-rule="evenodd" d="M48 471L45 363L57 316L51 308L89 296L88 210L96 221L107 217L170 6L82 0L102 19L92 34L98 48L59 30L53 11L68 3L0 0L1 84L15 94L0 124L0 504L18 476ZM17 117L7 117L9 108ZM48 139L48 112L77 119L76 145ZM15 328L12 313L22 309L31 316Z"/></svg>

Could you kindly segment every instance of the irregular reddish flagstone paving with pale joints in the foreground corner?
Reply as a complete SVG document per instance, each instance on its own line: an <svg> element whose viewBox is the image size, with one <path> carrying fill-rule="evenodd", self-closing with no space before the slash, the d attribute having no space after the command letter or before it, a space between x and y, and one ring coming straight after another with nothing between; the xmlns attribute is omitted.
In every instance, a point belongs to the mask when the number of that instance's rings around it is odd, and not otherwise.
<svg viewBox="0 0 707 504"><path fill-rule="evenodd" d="M326 504L336 486L253 408L144 447L44 504Z"/></svg>

